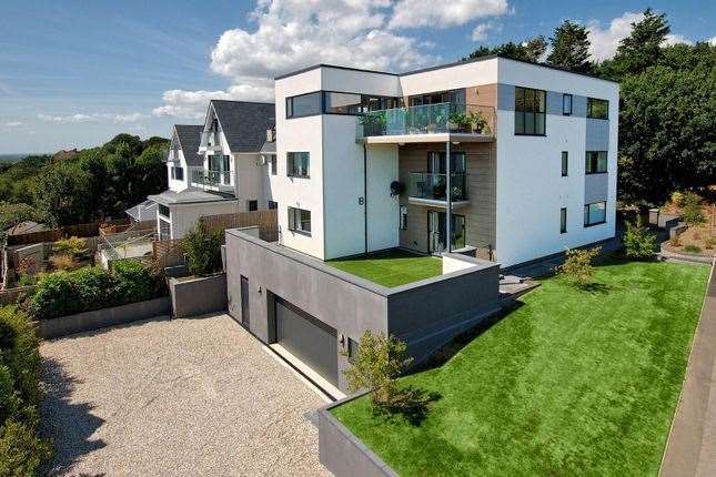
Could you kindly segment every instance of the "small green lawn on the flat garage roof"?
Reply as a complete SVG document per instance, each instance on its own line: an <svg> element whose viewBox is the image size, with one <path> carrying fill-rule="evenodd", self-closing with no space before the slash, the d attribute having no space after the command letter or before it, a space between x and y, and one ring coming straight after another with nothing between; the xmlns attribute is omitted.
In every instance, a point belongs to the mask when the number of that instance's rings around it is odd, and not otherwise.
<svg viewBox="0 0 716 477"><path fill-rule="evenodd" d="M369 256L332 260L329 265L379 285L393 287L442 274L440 258L416 255L399 248Z"/></svg>

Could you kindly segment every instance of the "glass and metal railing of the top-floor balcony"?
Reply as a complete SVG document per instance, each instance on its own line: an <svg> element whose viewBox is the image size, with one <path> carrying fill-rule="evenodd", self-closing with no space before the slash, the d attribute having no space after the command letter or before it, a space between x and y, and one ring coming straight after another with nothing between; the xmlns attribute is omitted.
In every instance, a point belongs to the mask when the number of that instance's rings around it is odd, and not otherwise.
<svg viewBox="0 0 716 477"><path fill-rule="evenodd" d="M436 103L364 113L357 138L464 133L494 136L495 109L477 104Z"/></svg>

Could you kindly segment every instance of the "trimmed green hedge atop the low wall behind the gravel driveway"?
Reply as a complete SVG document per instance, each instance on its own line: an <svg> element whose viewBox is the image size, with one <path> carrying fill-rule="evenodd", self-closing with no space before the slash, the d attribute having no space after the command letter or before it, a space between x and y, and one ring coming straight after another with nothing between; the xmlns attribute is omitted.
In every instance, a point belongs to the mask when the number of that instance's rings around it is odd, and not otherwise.
<svg viewBox="0 0 716 477"><path fill-rule="evenodd" d="M119 261L112 271L84 267L43 276L28 301L36 319L51 319L159 295L160 283L151 271L135 261Z"/></svg>

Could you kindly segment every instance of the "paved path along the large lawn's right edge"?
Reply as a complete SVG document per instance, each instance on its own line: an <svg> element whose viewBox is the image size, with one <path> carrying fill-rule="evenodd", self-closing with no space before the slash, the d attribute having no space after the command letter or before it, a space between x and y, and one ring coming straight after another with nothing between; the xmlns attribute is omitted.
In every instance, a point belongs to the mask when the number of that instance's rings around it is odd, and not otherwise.
<svg viewBox="0 0 716 477"><path fill-rule="evenodd" d="M660 475L716 476L716 267L712 267Z"/></svg>

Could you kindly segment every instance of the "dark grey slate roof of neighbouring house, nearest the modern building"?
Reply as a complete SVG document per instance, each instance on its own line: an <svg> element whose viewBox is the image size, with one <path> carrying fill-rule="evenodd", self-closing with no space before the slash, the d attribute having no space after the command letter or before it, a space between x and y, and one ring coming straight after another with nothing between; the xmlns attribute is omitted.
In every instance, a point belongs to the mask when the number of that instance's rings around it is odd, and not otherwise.
<svg viewBox="0 0 716 477"><path fill-rule="evenodd" d="M231 152L259 152L275 125L273 103L211 100Z"/></svg>

